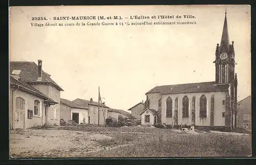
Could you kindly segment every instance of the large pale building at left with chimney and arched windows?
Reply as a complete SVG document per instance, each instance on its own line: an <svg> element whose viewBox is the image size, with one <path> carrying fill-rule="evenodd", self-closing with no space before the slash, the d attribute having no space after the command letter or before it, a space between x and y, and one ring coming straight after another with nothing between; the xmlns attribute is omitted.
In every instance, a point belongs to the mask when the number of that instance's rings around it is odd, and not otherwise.
<svg viewBox="0 0 256 165"><path fill-rule="evenodd" d="M59 125L60 91L42 61L10 62L10 127Z"/></svg>

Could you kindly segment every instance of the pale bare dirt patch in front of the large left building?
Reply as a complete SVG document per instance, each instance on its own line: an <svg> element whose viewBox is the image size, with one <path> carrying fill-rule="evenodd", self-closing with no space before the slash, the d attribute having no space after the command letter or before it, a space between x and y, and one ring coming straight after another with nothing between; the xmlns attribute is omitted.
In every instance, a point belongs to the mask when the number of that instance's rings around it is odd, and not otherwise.
<svg viewBox="0 0 256 165"><path fill-rule="evenodd" d="M93 132L55 129L11 130L11 157L82 157L105 150L98 140L112 139Z"/></svg>

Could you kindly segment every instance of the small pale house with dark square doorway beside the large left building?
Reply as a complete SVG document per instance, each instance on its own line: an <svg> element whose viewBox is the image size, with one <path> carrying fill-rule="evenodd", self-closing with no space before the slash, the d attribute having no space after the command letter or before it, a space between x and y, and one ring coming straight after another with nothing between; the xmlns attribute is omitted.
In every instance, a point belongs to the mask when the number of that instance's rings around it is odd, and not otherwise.
<svg viewBox="0 0 256 165"><path fill-rule="evenodd" d="M77 124L89 123L89 108L76 104L67 99L60 99L60 119L74 120Z"/></svg>

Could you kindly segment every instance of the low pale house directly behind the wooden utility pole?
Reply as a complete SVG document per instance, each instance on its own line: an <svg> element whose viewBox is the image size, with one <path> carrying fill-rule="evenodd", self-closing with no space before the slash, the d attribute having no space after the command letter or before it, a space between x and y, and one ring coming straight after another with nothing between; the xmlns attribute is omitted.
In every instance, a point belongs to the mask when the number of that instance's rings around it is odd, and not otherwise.
<svg viewBox="0 0 256 165"><path fill-rule="evenodd" d="M88 107L89 108L89 123L91 124L105 124L105 119L110 117L114 117L118 119L118 112L106 106L105 103L99 104L98 102L93 101L93 98L90 100L84 100L77 98L72 102ZM103 112L102 112L103 110Z"/></svg>

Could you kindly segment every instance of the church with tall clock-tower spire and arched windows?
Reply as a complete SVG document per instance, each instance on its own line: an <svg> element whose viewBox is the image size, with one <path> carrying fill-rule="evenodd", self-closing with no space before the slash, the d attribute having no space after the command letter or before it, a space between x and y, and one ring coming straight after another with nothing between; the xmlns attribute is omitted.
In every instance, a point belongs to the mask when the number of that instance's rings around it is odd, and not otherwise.
<svg viewBox="0 0 256 165"><path fill-rule="evenodd" d="M234 42L229 42L225 12L221 43L215 52L215 81L157 86L146 93L141 124L237 127L237 73Z"/></svg>

